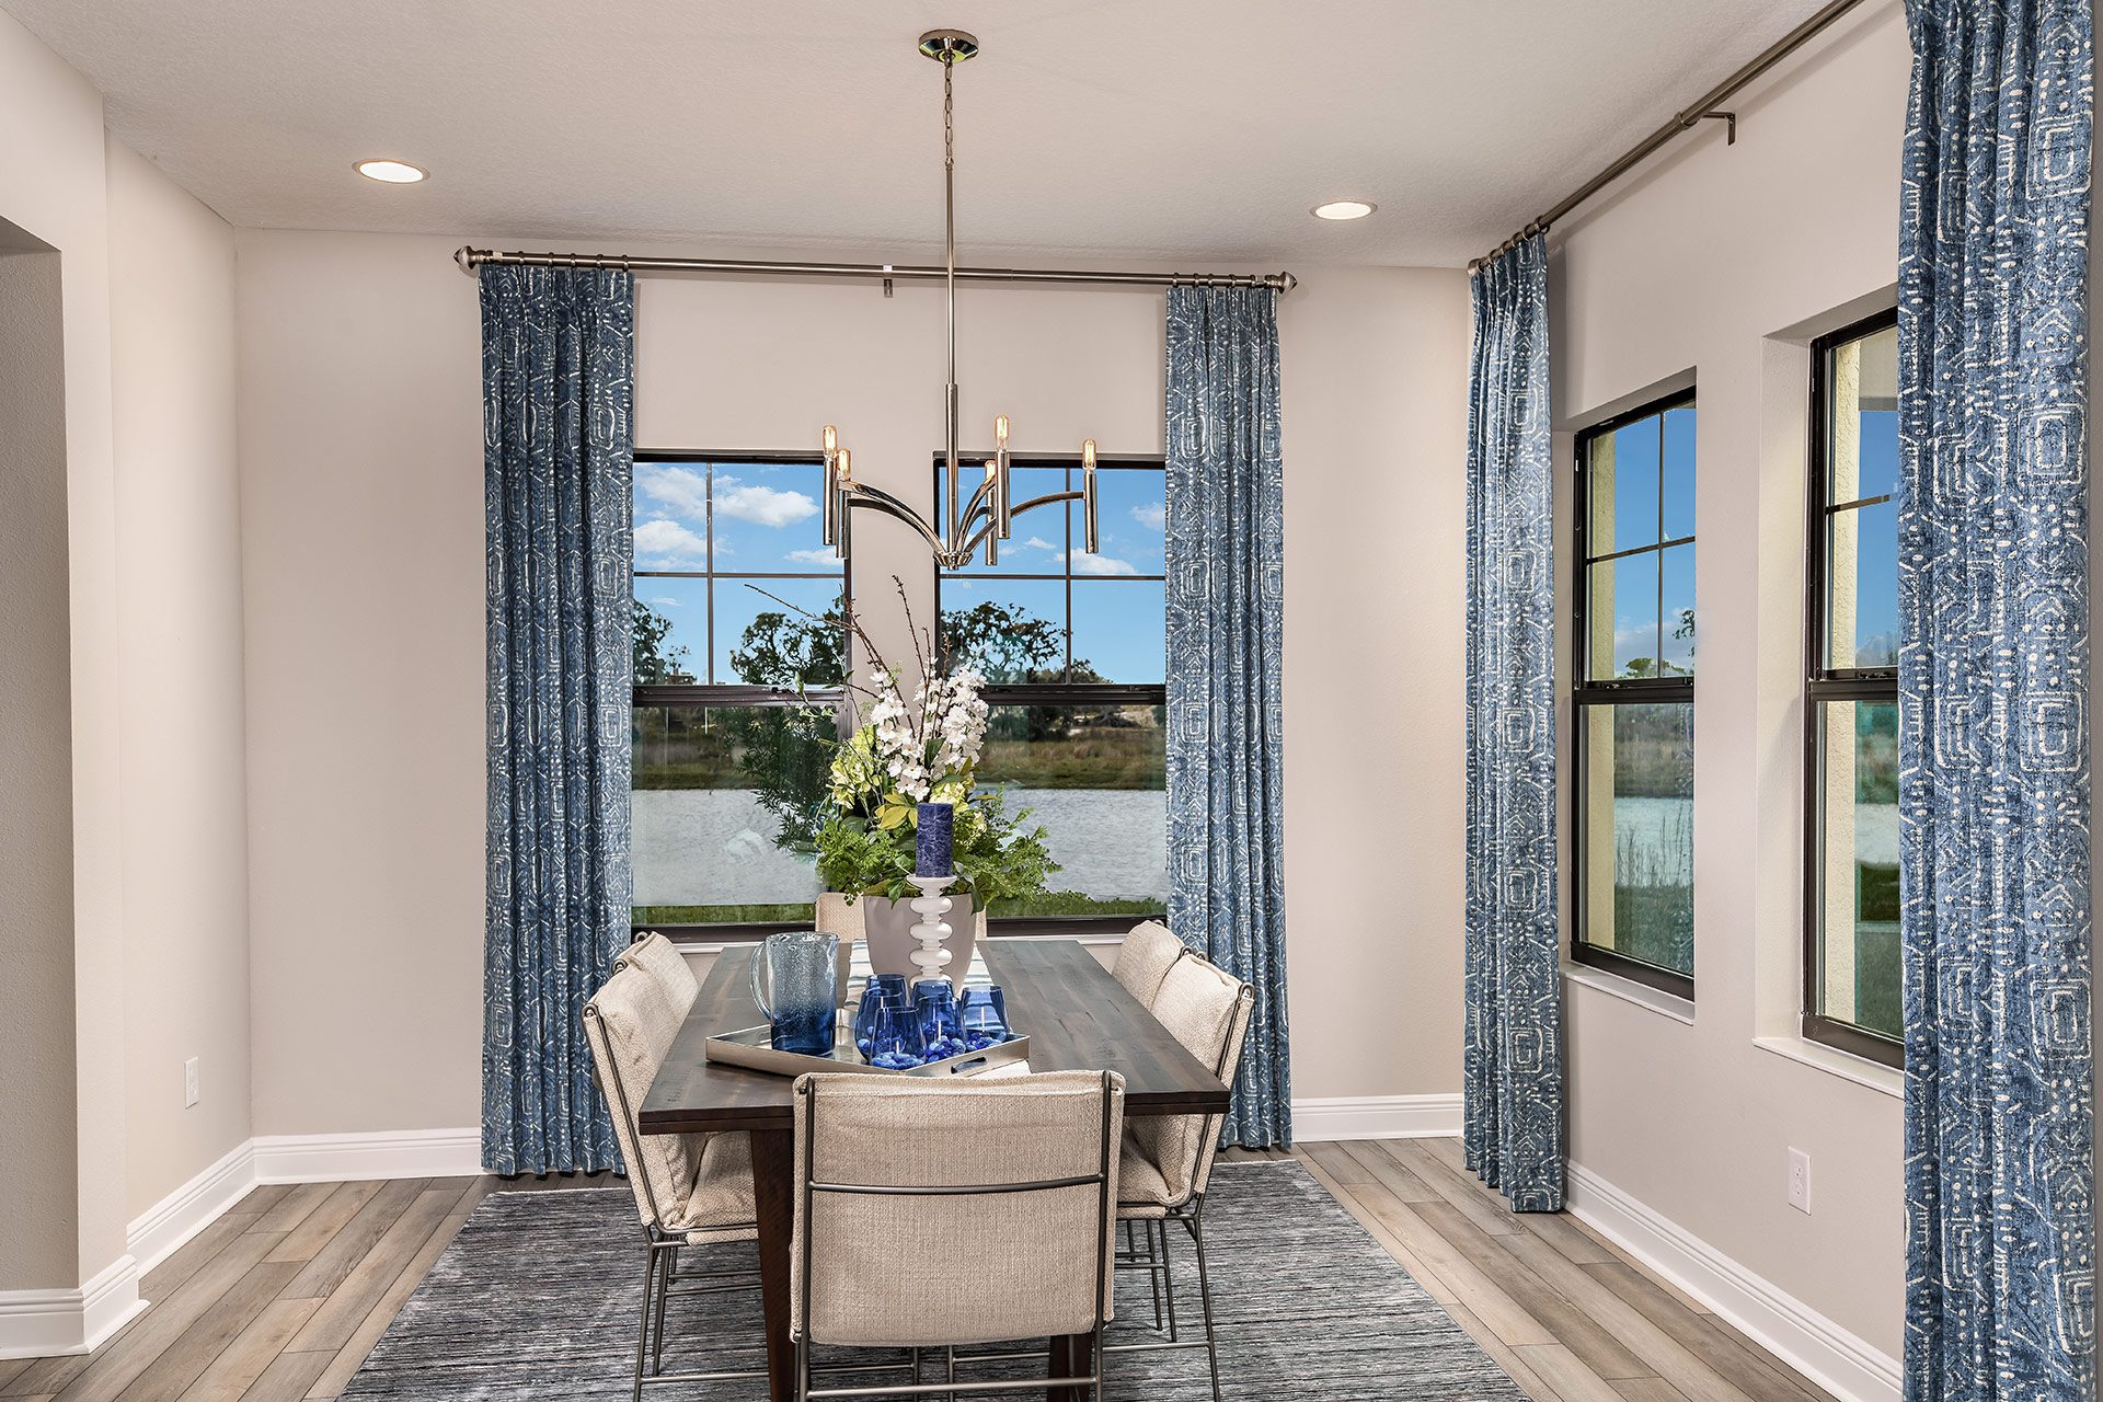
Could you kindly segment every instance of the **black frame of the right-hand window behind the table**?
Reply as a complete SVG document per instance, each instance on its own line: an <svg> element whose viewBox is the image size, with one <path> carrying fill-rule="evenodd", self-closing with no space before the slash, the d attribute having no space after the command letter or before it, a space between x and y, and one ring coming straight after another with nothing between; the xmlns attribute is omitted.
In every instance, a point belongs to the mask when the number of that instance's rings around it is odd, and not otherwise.
<svg viewBox="0 0 2103 1402"><path fill-rule="evenodd" d="M961 465L972 465L972 462L984 462L991 456L993 456L993 452L959 454L957 460ZM1073 481L1073 475L1081 467L1081 454L1030 454L1030 456L1014 454L1009 458L1009 467L1012 469L1062 467L1062 469L1068 471L1068 490L1079 490L1079 483ZM1131 469L1142 469L1142 471L1150 469L1150 471L1157 471L1157 473L1163 475L1163 483L1167 481L1167 456L1163 456L1163 454L1098 454L1096 456L1096 471L1100 471L1100 473L1131 471ZM959 475L961 477L959 496L963 496L963 500L969 500L969 492L976 490L976 486L972 483L972 475L976 475L976 473ZM946 507L944 507L944 490L946 490L946 486L948 486L946 458L942 454L934 454L934 496L932 496L932 500L934 500L934 504L938 509L938 515L944 515L944 517L946 517ZM1073 673L1073 580L1075 580L1075 574L1073 574L1073 551L1075 551L1075 530L1073 530L1073 511L1068 509L1062 515L1066 519L1066 540L1064 540L1066 549L1064 549L1062 572L984 570L982 565L978 570L944 570L944 568L940 568L934 561L934 557L927 559L927 565L934 572L934 620L936 620L934 633L936 633L936 645L938 647L940 647L940 639L942 639L942 580L946 576L959 574L959 576L986 578L986 580L1064 580L1064 586L1066 586L1064 589L1064 593L1066 593L1066 618L1064 618L1062 633L1064 633L1064 639L1066 639L1066 664L1064 664L1062 671L1066 671L1068 675ZM1028 519L1028 517L1020 517L1020 519ZM1163 536L1165 536L1165 532L1163 532ZM984 559L984 549L980 549L978 559ZM1163 570L1161 574L1117 574L1117 576L1081 576L1081 578L1083 580L1091 580L1091 578L1102 578L1102 580L1136 580L1136 582L1159 580L1159 582L1165 584L1167 582L1167 572ZM1163 706L1163 708L1167 708L1167 704L1169 704L1169 687L1167 687L1167 673L1165 673L1165 668L1167 668L1165 647L1167 647L1167 639L1163 637L1163 681L1161 683L1123 683L1123 681L1058 681L1058 683L1035 683L1035 685L991 685L988 683L984 687L984 692L980 692L980 696L986 700L988 706ZM1167 902L1163 902L1163 908L1165 906L1167 906ZM1129 933L1134 925L1138 925L1140 921L1148 921L1148 919L1157 919L1157 916L1146 916L1146 914L988 916L986 919L986 933L988 935L1045 935L1045 937L1064 937L1064 940L1075 940L1075 937L1083 937L1083 935L1123 935L1123 933ZM1159 919L1167 919L1165 912Z"/></svg>

